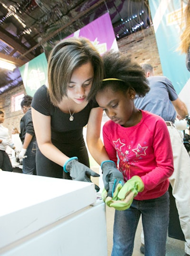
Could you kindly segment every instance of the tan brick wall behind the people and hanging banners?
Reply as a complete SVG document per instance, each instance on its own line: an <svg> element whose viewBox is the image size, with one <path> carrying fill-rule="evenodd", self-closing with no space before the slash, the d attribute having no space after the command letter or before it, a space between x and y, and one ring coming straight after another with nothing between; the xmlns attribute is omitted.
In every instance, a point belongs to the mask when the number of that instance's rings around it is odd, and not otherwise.
<svg viewBox="0 0 190 256"><path fill-rule="evenodd" d="M137 31L123 39L117 41L119 50L126 53L129 58L135 60L139 64L149 62L154 68L155 75L162 75L161 63L156 44L153 28ZM11 96L21 91L25 91L24 86L10 89L0 95L0 110L5 113L4 126L10 131L13 127L19 129L20 118L23 116L21 110L11 112Z"/></svg>

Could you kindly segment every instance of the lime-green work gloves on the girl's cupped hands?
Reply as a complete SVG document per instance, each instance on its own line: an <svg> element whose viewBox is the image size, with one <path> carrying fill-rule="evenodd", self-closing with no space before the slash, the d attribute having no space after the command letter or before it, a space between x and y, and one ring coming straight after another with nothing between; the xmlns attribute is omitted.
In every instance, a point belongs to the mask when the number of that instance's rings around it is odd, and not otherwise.
<svg viewBox="0 0 190 256"><path fill-rule="evenodd" d="M142 179L139 176L133 176L120 189L118 198L116 200L112 198L109 206L114 207L116 210L126 210L131 206L133 198L137 196L138 192L142 192L143 189Z"/></svg>

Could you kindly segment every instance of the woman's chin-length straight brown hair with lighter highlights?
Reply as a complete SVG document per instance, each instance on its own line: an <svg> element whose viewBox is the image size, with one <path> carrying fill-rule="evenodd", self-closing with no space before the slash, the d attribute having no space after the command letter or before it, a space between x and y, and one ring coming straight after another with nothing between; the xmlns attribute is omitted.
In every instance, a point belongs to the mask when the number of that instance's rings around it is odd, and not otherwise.
<svg viewBox="0 0 190 256"><path fill-rule="evenodd" d="M90 100L103 79L103 62L98 50L89 39L82 37L64 39L52 49L48 56L47 74L48 92L55 106L67 96L73 71L87 62L91 62L94 69L92 87L87 96Z"/></svg>

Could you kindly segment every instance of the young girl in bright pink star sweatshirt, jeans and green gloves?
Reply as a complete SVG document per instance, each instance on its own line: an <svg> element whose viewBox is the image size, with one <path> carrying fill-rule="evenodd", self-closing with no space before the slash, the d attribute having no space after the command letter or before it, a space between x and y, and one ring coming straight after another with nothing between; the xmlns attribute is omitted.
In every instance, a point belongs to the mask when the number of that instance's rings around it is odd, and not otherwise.
<svg viewBox="0 0 190 256"><path fill-rule="evenodd" d="M105 202L114 207L112 256L131 256L142 215L145 255L165 255L169 223L168 177L173 172L169 132L164 120L135 108L135 95L149 91L142 68L119 52L103 56L105 79L96 101L111 119L104 124L104 146L118 163L125 184ZM133 199L134 198L134 199Z"/></svg>

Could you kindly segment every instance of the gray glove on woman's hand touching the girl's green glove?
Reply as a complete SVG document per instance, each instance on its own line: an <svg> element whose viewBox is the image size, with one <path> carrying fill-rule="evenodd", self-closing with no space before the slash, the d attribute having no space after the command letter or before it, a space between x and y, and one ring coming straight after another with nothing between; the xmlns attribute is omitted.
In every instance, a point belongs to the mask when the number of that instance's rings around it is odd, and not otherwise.
<svg viewBox="0 0 190 256"><path fill-rule="evenodd" d="M120 183L124 184L123 174L117 169L114 161L106 160L101 163L104 188L108 197L113 197L115 188Z"/></svg>

